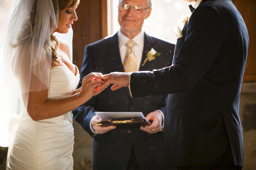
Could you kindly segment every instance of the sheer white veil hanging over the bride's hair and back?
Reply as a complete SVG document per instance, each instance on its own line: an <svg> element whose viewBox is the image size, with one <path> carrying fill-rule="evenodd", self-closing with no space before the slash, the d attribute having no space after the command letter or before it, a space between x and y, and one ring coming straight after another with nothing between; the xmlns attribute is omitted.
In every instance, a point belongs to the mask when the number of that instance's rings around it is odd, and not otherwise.
<svg viewBox="0 0 256 170"><path fill-rule="evenodd" d="M0 36L0 146L8 147L29 92L48 88L57 0L13 0Z"/></svg>

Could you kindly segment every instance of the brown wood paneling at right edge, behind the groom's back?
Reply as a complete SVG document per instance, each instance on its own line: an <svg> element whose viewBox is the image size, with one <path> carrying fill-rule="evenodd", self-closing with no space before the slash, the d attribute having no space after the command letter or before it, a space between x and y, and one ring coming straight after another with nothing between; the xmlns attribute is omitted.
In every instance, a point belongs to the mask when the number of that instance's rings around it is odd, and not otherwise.
<svg viewBox="0 0 256 170"><path fill-rule="evenodd" d="M244 18L249 33L249 52L244 71L244 82L256 81L256 0L232 0Z"/></svg>

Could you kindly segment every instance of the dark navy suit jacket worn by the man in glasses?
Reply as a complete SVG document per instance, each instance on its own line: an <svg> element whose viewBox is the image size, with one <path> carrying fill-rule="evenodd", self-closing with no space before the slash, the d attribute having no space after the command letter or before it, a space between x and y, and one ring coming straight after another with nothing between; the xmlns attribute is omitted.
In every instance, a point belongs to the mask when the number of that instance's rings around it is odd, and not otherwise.
<svg viewBox="0 0 256 170"><path fill-rule="evenodd" d="M172 64L175 45L145 34L142 63L148 51L154 48L162 53L153 61L147 61L140 71L152 71ZM104 40L87 45L81 67L81 79L91 72L109 74L123 72L119 53L117 34ZM81 86L81 82L78 87ZM74 118L90 133L90 119L95 111L124 111L148 113L156 110L165 111L166 96L131 98L128 87L112 91L111 87L73 111ZM122 170L127 167L134 147L137 163L141 170L166 170L163 132L149 134L140 129L115 129L93 137L93 169Z"/></svg>

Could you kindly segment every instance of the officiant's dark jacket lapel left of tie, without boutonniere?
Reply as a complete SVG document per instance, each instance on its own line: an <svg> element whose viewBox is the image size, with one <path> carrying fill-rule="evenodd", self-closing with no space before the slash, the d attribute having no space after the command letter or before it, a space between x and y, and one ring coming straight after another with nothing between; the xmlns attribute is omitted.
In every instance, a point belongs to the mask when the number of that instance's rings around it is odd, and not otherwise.
<svg viewBox="0 0 256 170"><path fill-rule="evenodd" d="M122 65L122 60L120 57L120 51L119 51L119 45L118 45L118 37L117 37L117 33L115 35L113 35L112 38L110 38L110 41L108 42L108 51L109 51L109 60L111 61L112 65L110 65L109 67L113 67L115 68L115 71L118 72L124 72L124 68ZM129 96L131 98L131 94L129 91L128 87L125 88L121 88L122 90L125 91L125 93L127 94L127 96Z"/></svg>

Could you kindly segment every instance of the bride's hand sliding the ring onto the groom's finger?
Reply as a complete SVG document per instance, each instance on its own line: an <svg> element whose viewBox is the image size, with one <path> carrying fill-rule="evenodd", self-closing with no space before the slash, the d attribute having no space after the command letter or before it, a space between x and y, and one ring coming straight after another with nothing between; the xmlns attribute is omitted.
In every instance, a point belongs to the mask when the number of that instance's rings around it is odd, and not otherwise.
<svg viewBox="0 0 256 170"><path fill-rule="evenodd" d="M100 89L100 91L97 90L104 83L102 79L103 75L101 73L90 73L83 77L80 95L88 101L92 96L101 93L105 88Z"/></svg>

